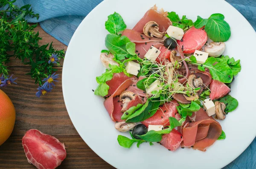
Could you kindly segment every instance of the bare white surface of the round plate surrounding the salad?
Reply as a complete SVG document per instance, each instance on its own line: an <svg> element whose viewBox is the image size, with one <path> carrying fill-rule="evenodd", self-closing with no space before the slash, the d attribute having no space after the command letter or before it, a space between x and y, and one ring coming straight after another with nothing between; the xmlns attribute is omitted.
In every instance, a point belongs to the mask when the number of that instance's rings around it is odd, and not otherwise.
<svg viewBox="0 0 256 169"><path fill-rule="evenodd" d="M105 72L99 59L105 48L105 21L114 11L119 13L127 28L133 26L145 12L157 4L165 11L175 11L179 16L196 20L208 18L213 13L224 14L230 24L231 37L226 42L225 55L241 59L242 70L232 83L231 96L239 107L220 121L226 139L216 141L206 152L193 149L168 151L160 144L148 143L130 149L119 146L114 122L103 105L104 99L95 96L96 76ZM256 33L247 20L224 0L104 0L82 21L67 48L62 86L67 111L81 138L101 158L118 169L219 169L237 158L256 136L256 104L254 89ZM128 136L129 137L129 136Z"/></svg>

